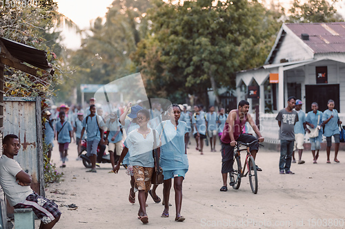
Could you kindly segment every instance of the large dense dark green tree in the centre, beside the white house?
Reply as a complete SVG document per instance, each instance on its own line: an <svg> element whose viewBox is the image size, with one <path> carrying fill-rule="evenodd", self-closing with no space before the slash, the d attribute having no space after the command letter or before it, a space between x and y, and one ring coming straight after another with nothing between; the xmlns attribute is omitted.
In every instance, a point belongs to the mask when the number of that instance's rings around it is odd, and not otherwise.
<svg viewBox="0 0 345 229"><path fill-rule="evenodd" d="M264 63L280 26L267 12L257 1L156 0L148 11L152 35L133 59L152 94L178 89L207 104L208 88L217 95L235 85L235 72Z"/></svg>

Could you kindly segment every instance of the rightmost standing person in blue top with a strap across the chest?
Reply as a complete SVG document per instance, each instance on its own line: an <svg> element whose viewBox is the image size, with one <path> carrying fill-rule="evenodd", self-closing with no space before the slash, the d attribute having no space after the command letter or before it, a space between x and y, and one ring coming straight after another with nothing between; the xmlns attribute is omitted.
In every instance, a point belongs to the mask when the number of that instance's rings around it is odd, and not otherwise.
<svg viewBox="0 0 345 229"><path fill-rule="evenodd" d="M326 136L327 140L327 163L331 163L329 160L329 155L331 154L331 146L332 146L332 136L334 137L335 147L334 147L334 161L339 162L337 160L337 155L339 151L339 127L338 124L342 124L339 120L338 111L334 109L334 101L328 100L327 102L328 109L324 111L322 115L322 126L324 127L324 135Z"/></svg>

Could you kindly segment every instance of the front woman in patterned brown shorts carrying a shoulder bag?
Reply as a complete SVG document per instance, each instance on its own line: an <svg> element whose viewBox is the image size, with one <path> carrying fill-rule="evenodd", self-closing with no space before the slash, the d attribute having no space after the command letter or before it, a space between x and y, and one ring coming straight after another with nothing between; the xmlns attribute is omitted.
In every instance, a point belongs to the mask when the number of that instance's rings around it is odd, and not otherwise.
<svg viewBox="0 0 345 229"><path fill-rule="evenodd" d="M147 109L141 109L137 112L138 129L128 133L124 142L124 149L117 165L114 168L114 173L119 171L120 164L124 157L130 152L128 157L129 164L133 168L133 177L135 179L134 191L139 191L139 212L138 219L143 223L148 223L148 215L146 213L146 199L148 190L151 186L151 177L154 169L154 160L152 156L152 149L159 146L159 135L157 131L148 128L148 121L150 120L150 113ZM154 142L154 134L156 142ZM159 160L159 158L157 158Z"/></svg>

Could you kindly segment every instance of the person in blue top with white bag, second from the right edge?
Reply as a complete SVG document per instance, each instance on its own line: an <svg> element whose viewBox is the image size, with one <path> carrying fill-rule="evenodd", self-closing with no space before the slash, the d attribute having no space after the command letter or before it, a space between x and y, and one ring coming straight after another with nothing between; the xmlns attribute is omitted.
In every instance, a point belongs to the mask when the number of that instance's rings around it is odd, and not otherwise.
<svg viewBox="0 0 345 229"><path fill-rule="evenodd" d="M319 109L319 105L317 105L317 102L313 102L311 104L311 109L312 110L309 111L308 115L306 116L306 124L312 130L315 128L319 129L319 135L317 135L317 137L309 138L309 140L311 140L311 153L313 153L313 163L317 164L317 158L319 158L319 149L321 149L322 142L322 128L320 127L320 124L322 122L322 111L317 110ZM316 150L317 153L315 154Z"/></svg>

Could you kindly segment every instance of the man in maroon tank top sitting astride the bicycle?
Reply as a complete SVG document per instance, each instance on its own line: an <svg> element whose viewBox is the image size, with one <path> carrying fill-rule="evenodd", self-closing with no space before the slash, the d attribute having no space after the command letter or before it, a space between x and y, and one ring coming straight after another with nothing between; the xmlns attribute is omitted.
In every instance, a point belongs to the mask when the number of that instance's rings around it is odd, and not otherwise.
<svg viewBox="0 0 345 229"><path fill-rule="evenodd" d="M253 118L248 113L249 102L246 100L239 101L238 109L234 109L229 112L228 118L226 119L223 133L221 135L221 175L223 177L223 186L220 188L221 191L227 191L228 187L226 180L228 179L228 173L233 171L234 162L234 149L237 144L236 141L249 143L255 141L253 135L243 133L246 122L249 122L257 136L259 136L259 142L264 142L259 128L255 124ZM250 153L253 155L254 160L258 150L257 142L250 144ZM257 166L257 171L262 171ZM230 186L233 186L234 182L230 182Z"/></svg>

